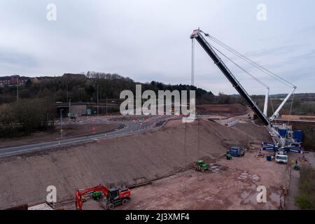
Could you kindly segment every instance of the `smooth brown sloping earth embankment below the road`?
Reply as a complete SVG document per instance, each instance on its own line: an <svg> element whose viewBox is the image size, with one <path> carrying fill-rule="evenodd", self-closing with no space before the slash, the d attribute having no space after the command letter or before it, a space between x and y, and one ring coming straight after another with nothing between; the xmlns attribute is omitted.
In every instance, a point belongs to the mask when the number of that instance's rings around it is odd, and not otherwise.
<svg viewBox="0 0 315 224"><path fill-rule="evenodd" d="M197 159L197 122L187 126L186 153L184 127L173 121L155 132L0 159L0 170L6 171L0 176L0 209L44 202L50 185L57 187L57 200L63 201L73 199L77 188L99 183L130 186L179 172ZM253 124L248 127L267 132ZM255 139L237 128L202 121L201 156L217 158L229 146L268 140Z"/></svg>

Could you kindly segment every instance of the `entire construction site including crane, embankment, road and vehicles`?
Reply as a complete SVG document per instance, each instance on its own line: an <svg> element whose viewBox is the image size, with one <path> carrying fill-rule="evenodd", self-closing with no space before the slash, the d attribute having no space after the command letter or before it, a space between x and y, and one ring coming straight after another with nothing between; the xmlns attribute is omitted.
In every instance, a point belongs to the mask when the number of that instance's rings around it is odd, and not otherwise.
<svg viewBox="0 0 315 224"><path fill-rule="evenodd" d="M158 115L129 107L125 114L107 114L107 99L106 113L99 112L97 84L95 113L85 114L84 105L78 116L71 113L67 95L66 103L58 103L60 119L53 121L54 130L1 139L0 209L298 209L299 172L301 167L315 167L315 154L314 148L304 148L306 135L295 127L314 127L315 118L291 113L297 86L202 29L193 30L190 40L191 86L199 44L243 104L195 105L193 98L185 104L187 113L176 111L175 103L163 103L162 109L169 106L169 111L160 114L159 108ZM269 86L217 45L287 85L286 97L274 106ZM231 64L262 85L263 106L241 85ZM283 106L289 106L290 114L281 114ZM68 116L63 116L64 110Z"/></svg>

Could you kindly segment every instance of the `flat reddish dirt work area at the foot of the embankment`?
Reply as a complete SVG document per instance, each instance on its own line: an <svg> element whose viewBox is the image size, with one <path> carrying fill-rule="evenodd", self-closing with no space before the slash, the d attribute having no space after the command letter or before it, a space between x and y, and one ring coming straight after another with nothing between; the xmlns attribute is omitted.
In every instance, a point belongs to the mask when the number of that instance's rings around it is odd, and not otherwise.
<svg viewBox="0 0 315 224"><path fill-rule="evenodd" d="M243 158L222 158L208 172L190 169L134 188L130 203L116 209L279 209L288 166L255 155L249 151ZM267 188L266 203L256 200L258 186ZM83 209L102 207L88 202Z"/></svg>

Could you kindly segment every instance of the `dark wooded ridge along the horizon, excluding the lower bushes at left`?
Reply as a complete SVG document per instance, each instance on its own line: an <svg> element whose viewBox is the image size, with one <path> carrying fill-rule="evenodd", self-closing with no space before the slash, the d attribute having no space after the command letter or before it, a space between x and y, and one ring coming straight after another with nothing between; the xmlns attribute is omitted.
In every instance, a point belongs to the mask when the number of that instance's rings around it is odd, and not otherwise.
<svg viewBox="0 0 315 224"><path fill-rule="evenodd" d="M99 100L119 99L120 92L132 90L135 93L136 85L142 84L142 90L195 90L197 104L232 104L242 103L237 97L220 93L215 96L212 92L193 85L171 85L152 81L151 83L137 83L131 78L118 74L97 73L89 71L83 74L64 74L59 77L45 77L38 83L28 80L19 87L19 99L49 98L53 102L97 102ZM98 90L98 91L97 91ZM0 88L0 104L12 103L17 100L17 87L6 86Z"/></svg>

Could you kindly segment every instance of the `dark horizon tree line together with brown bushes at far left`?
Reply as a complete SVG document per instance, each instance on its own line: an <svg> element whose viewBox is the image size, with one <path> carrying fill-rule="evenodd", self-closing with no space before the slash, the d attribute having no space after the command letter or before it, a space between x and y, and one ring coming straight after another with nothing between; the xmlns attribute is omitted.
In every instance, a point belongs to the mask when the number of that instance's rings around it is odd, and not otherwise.
<svg viewBox="0 0 315 224"><path fill-rule="evenodd" d="M0 137L18 137L41 130L53 130L58 118L56 102L99 102L119 99L120 92L142 85L142 91L153 90L195 90L196 104L244 104L240 97L224 93L215 96L212 92L193 85L170 85L152 81L137 83L118 74L97 73L69 74L59 77L27 80L25 85L0 88Z"/></svg>

